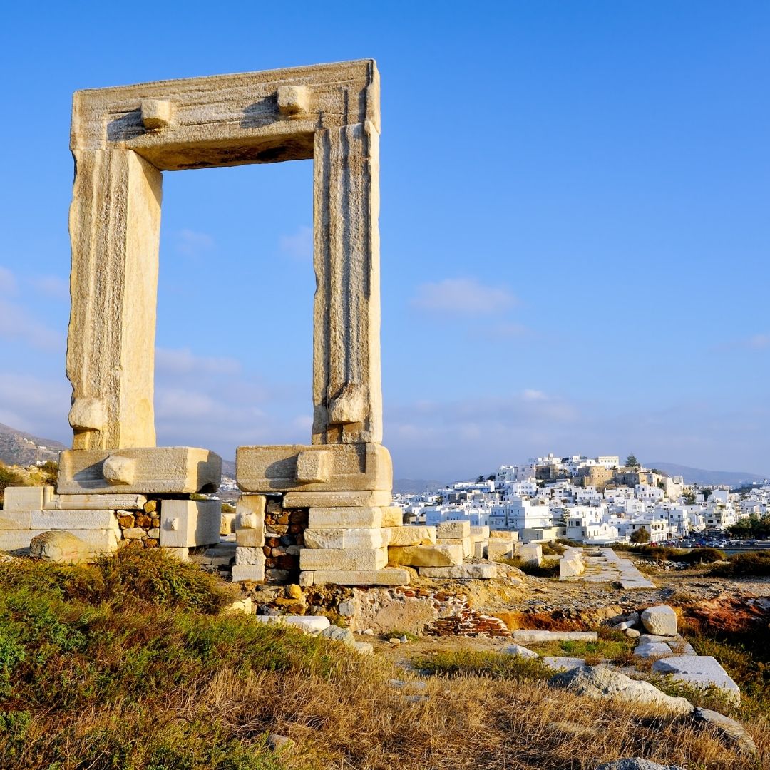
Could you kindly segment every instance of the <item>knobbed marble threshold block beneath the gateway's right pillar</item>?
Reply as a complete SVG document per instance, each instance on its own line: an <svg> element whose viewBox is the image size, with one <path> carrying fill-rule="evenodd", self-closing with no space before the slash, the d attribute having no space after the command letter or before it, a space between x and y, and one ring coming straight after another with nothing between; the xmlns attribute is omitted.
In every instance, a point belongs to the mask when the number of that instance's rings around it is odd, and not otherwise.
<svg viewBox="0 0 770 770"><path fill-rule="evenodd" d="M238 447L236 480L248 492L355 492L393 488L382 444Z"/></svg>

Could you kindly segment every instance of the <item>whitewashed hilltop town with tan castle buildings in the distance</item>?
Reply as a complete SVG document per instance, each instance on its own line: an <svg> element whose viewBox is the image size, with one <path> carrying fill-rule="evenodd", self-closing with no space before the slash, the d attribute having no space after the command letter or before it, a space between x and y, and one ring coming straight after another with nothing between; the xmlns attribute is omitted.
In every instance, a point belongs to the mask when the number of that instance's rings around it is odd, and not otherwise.
<svg viewBox="0 0 770 770"><path fill-rule="evenodd" d="M520 541L567 538L586 545L650 541L683 544L724 537L729 527L770 511L770 485L685 484L646 468L634 456L531 458L501 465L489 477L458 481L424 494L395 494L410 524L469 521L517 532Z"/></svg>

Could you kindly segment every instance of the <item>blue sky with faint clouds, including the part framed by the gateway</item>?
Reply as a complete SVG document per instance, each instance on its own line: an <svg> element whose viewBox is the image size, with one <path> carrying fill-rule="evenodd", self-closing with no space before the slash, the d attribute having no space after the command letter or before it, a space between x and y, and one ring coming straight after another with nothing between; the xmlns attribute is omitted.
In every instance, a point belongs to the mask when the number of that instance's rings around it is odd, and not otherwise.
<svg viewBox="0 0 770 770"><path fill-rule="evenodd" d="M0 422L69 441L75 89L373 57L397 477L770 473L766 2L4 11ZM310 437L312 162L164 175L159 444Z"/></svg>

